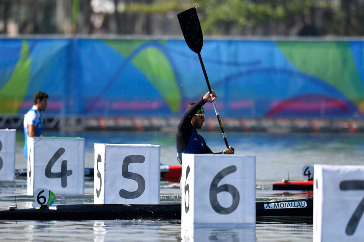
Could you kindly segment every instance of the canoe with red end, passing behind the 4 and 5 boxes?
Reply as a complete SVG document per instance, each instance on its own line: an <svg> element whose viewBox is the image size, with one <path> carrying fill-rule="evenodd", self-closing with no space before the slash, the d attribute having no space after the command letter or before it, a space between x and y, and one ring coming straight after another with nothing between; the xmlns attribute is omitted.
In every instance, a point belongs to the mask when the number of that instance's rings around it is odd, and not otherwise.
<svg viewBox="0 0 364 242"><path fill-rule="evenodd" d="M182 174L181 165L163 165L161 164L161 179L179 180ZM27 176L27 169L15 169L15 177ZM94 168L85 168L85 177L93 177Z"/></svg>

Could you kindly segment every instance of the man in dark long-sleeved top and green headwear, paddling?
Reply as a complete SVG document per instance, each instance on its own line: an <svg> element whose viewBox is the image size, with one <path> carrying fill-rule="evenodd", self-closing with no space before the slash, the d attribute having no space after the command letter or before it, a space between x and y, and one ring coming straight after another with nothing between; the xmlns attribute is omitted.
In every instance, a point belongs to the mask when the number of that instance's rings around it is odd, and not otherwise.
<svg viewBox="0 0 364 242"><path fill-rule="evenodd" d="M205 122L205 111L203 104L212 102L217 98L217 95L212 91L206 93L197 103L190 103L187 107L185 115L178 124L176 142L177 142L177 160L182 164L182 153L193 154L233 154L234 148L229 146L222 152L214 153L206 145L205 139L197 134L197 129L202 128Z"/></svg>

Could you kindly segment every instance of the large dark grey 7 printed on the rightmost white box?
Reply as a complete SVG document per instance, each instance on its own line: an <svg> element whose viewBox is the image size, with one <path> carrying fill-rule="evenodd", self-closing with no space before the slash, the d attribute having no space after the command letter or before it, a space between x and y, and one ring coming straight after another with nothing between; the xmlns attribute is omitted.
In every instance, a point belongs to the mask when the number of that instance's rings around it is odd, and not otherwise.
<svg viewBox="0 0 364 242"><path fill-rule="evenodd" d="M347 180L340 182L340 190L364 190L364 180ZM353 235L356 227L360 221L364 212L364 197L356 207L353 215L351 216L348 224L346 225L345 233L347 235Z"/></svg>

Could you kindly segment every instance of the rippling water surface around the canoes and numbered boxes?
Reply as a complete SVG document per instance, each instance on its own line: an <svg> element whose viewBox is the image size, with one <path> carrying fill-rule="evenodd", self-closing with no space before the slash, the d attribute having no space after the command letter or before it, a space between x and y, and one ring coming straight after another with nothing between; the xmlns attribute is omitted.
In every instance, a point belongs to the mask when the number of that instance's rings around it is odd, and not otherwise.
<svg viewBox="0 0 364 242"><path fill-rule="evenodd" d="M207 145L222 151L224 142L217 132L200 132ZM83 132L47 136L80 136L85 138L85 167L94 165L94 143L160 144L161 162L178 164L175 159L174 134L169 132ZM306 197L305 193L273 191L272 184L289 177L302 180L303 165L362 165L364 135L362 134L269 134L227 133L229 144L237 154L255 154L257 201ZM24 137L17 133L16 168L26 168L23 157ZM59 196L55 204L92 204L94 184L85 179L84 196ZM0 209L15 204L32 207L33 197L26 196L27 180L0 183ZM178 183L161 182L161 203L181 202ZM0 221L1 241L181 241L189 236L195 241L312 241L312 225L282 222L257 222L255 229L203 229L181 231L179 222L106 220L106 221Z"/></svg>

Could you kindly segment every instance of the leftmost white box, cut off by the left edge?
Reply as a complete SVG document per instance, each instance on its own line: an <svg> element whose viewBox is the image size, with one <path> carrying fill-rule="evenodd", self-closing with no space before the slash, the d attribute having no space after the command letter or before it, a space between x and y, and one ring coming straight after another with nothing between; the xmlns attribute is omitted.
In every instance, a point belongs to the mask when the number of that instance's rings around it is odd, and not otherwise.
<svg viewBox="0 0 364 242"><path fill-rule="evenodd" d="M16 130L0 130L0 181L15 180Z"/></svg>

